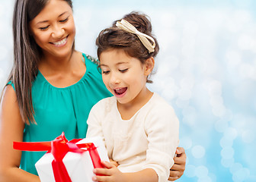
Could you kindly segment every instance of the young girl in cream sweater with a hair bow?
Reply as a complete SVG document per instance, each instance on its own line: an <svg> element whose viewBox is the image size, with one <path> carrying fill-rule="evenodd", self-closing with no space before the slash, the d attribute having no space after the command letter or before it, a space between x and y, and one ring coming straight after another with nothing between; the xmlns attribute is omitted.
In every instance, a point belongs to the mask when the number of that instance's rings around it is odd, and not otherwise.
<svg viewBox="0 0 256 182"><path fill-rule="evenodd" d="M88 117L87 137L104 138L109 158L95 181L167 181L178 146L178 118L146 83L158 42L145 14L132 12L96 40L104 84L114 96L102 99ZM98 175L104 174L104 175Z"/></svg>

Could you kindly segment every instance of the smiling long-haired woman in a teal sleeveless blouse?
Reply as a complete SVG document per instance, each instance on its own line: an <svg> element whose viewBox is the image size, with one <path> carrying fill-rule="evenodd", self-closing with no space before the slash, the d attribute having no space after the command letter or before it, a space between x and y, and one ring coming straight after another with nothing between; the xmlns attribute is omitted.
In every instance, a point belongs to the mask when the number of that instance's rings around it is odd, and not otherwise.
<svg viewBox="0 0 256 182"><path fill-rule="evenodd" d="M13 34L14 66L1 103L0 181L40 181L34 164L43 152L21 153L13 141L49 141L62 131L68 140L83 138L91 107L111 94L96 60L74 49L72 1L17 0ZM171 180L184 172L180 150Z"/></svg>

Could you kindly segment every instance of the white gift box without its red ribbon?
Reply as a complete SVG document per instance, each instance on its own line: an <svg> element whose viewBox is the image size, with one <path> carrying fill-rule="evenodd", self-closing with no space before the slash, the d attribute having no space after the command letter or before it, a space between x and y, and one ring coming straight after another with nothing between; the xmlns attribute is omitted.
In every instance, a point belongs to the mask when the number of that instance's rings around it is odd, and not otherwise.
<svg viewBox="0 0 256 182"><path fill-rule="evenodd" d="M101 161L108 161L107 149L101 137L91 137L80 140L76 144L81 143L94 143L94 146L98 150L98 154ZM83 148L81 148L83 149ZM53 155L51 153L46 153L40 158L36 163L37 173L40 177L41 182L54 182L53 174ZM62 162L66 166L69 177L72 182L92 182L92 177L95 175L93 173L94 166L91 162L91 156L88 151L81 153L67 152Z"/></svg>

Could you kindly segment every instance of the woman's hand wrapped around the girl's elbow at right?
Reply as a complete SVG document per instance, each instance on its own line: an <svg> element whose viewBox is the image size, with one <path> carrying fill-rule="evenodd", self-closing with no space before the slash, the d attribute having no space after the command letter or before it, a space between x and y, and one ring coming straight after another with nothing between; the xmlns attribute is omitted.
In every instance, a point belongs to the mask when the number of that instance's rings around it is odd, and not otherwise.
<svg viewBox="0 0 256 182"><path fill-rule="evenodd" d="M168 178L168 180L172 181L178 180L178 178L184 174L187 158L185 150L182 147L178 147L175 153L177 156L174 157L174 165L171 167L170 176Z"/></svg>

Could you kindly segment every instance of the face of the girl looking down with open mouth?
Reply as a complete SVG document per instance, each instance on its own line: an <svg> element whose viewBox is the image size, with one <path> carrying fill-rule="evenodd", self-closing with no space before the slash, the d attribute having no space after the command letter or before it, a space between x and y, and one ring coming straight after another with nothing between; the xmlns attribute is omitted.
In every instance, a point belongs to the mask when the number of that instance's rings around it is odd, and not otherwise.
<svg viewBox="0 0 256 182"><path fill-rule="evenodd" d="M102 52L100 60L104 84L120 104L132 103L145 93L146 78L152 71L146 64L118 49Z"/></svg>

